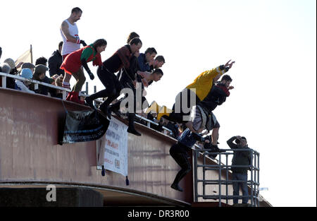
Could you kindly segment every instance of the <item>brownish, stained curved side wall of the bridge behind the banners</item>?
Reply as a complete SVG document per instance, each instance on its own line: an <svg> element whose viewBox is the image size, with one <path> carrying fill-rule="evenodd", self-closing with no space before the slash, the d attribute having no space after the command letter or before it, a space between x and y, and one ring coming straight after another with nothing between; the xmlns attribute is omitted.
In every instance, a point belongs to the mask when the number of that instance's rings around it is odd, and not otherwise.
<svg viewBox="0 0 317 221"><path fill-rule="evenodd" d="M183 179L185 191L170 188L180 167L169 155L175 139L137 125L141 137L128 136L128 179L97 170L96 142L58 145L58 129L68 110L89 107L43 95L0 88L0 183L46 182L120 189L127 193L192 203L192 174ZM124 121L124 120L123 120Z"/></svg>

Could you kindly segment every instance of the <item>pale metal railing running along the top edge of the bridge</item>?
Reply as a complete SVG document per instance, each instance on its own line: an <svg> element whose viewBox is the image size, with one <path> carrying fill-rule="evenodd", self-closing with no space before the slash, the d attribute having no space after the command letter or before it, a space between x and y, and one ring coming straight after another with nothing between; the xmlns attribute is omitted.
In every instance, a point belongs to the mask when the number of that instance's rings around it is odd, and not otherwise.
<svg viewBox="0 0 317 221"><path fill-rule="evenodd" d="M46 87L49 87L49 88L54 88L56 90L61 90L62 93L63 93L63 100L66 100L66 97L67 97L67 94L68 92L71 92L70 89L67 89L67 88L62 88L62 87L58 87L56 85L51 85L49 83L44 83L44 82L41 82L41 81L38 81L38 80L33 80L33 79L27 79L27 78L23 78L21 76L16 76L16 75L12 75L12 74L9 74L9 73L3 73L3 72L0 72L0 76L2 78L2 85L0 85L2 88L6 88L6 78L13 78L13 79L17 79L17 80L25 80L25 81L28 81L28 82L31 82L31 83L34 83L35 84L35 90L37 90L39 88L39 85L44 85ZM94 91L96 91L96 86L94 86ZM86 91L81 91L80 92L80 96L82 97L87 97L89 96L89 93L88 93L88 83L86 82ZM100 100L100 99L96 99L94 100L94 102L97 102L97 103L102 103L104 102L103 100ZM151 121L149 119L146 119L142 116L139 116L138 114L135 114L135 116L139 119L142 119L144 121L147 121L147 126L150 127L151 124L154 124L156 126L158 126L159 124L154 122L154 121ZM164 130L164 132L168 132L168 133L173 133L170 129L166 128L165 126L162 127L162 129Z"/></svg>

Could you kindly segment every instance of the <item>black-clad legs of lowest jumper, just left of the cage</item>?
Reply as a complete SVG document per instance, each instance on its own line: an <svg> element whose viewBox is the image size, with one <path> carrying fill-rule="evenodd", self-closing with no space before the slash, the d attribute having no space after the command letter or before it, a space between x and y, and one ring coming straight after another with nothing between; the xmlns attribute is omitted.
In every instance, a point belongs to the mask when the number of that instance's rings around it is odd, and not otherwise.
<svg viewBox="0 0 317 221"><path fill-rule="evenodd" d="M173 184L178 184L180 180L184 178L185 175L188 174L192 169L188 160L188 154L186 152L187 150L188 148L181 143L176 143L170 148L170 155L181 167L178 174L176 174Z"/></svg>

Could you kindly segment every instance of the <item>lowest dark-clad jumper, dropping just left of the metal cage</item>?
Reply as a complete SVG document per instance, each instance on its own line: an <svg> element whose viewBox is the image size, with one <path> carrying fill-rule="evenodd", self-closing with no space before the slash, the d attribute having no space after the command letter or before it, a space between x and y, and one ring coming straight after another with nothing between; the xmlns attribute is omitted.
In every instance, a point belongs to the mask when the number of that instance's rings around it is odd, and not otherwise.
<svg viewBox="0 0 317 221"><path fill-rule="evenodd" d="M200 131L201 132L201 131ZM178 185L180 180L185 177L186 174L192 169L190 162L188 160L189 155L187 152L192 150L192 146L200 141L202 143L208 143L208 140L205 140L199 133L192 133L189 129L186 129L182 135L178 138L178 143L172 145L170 148L170 155L173 159L180 165L181 169L176 174L176 177L173 181L173 184L170 186L172 189L177 191L183 191L182 188Z"/></svg>

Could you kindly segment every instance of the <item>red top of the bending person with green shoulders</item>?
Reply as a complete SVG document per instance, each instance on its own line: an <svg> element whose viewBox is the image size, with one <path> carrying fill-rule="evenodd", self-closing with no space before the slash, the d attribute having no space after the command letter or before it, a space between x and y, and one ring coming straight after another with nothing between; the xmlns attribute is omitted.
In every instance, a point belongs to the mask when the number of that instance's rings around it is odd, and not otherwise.
<svg viewBox="0 0 317 221"><path fill-rule="evenodd" d="M82 62L80 61L82 58L82 52L88 47L92 49L92 54L89 56L88 59L86 59L87 63L89 61L93 61L93 66L101 66L102 61L100 53L96 53L92 45L87 45L86 47L82 47L81 49L68 54L68 56L66 56L66 59L63 61L63 64L61 64L61 69L69 74L79 71L80 67L82 66Z"/></svg>

